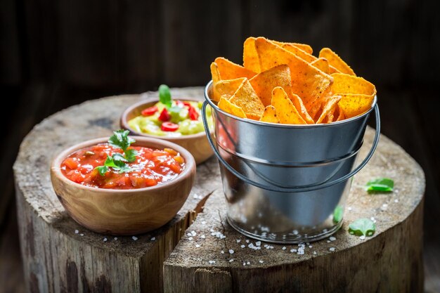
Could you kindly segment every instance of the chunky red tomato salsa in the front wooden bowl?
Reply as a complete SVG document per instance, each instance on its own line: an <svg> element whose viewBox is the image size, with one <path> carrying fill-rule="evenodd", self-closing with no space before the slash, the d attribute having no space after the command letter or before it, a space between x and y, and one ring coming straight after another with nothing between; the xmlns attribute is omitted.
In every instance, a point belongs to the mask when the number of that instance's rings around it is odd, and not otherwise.
<svg viewBox="0 0 440 293"><path fill-rule="evenodd" d="M61 171L71 181L95 187L112 189L134 189L154 186L176 178L183 168L185 161L175 150L163 150L133 146L136 150L136 160L127 163L131 171L119 173L109 168L104 176L99 174L98 166L105 163L108 155L123 153L120 148L113 148L108 143L83 148L66 157L61 163Z"/></svg>

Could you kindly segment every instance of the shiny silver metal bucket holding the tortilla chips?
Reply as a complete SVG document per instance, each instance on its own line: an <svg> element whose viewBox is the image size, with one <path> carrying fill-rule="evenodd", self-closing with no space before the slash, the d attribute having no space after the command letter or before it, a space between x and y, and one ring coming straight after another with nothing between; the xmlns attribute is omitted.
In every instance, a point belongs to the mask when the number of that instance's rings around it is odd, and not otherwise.
<svg viewBox="0 0 440 293"><path fill-rule="evenodd" d="M205 88L202 116L212 107L228 222L240 233L275 243L320 240L335 233L351 178L367 164L380 136L377 97L363 115L331 124L287 125L241 119L220 110ZM363 162L354 168L370 112L376 134ZM338 214L334 216L334 213Z"/></svg>

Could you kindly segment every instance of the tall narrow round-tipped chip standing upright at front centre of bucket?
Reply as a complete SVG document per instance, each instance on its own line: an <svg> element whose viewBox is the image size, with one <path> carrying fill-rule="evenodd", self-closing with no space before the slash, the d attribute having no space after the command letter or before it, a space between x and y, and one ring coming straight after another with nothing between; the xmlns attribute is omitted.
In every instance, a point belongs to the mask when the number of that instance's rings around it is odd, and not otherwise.
<svg viewBox="0 0 440 293"><path fill-rule="evenodd" d="M293 105L284 89L277 86L272 91L272 105L276 109L278 119L283 124L306 124Z"/></svg>

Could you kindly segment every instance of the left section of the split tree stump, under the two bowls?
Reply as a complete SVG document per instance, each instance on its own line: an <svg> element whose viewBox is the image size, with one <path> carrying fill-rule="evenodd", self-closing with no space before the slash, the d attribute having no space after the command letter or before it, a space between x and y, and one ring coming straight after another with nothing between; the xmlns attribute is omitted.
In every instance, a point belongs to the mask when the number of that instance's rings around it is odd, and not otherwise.
<svg viewBox="0 0 440 293"><path fill-rule="evenodd" d="M173 89L203 98L202 88ZM198 167L186 204L166 226L132 237L110 237L73 221L53 192L51 159L64 148L119 129L123 110L141 98L116 96L68 108L35 126L14 165L20 245L28 292L162 292L162 263L219 188L216 160ZM218 182L213 182L218 181Z"/></svg>

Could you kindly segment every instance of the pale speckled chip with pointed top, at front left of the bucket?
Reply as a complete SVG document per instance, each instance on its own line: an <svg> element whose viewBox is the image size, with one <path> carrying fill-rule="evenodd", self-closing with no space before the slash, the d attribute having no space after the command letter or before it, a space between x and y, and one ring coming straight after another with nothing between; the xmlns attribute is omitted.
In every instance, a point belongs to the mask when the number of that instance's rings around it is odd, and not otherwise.
<svg viewBox="0 0 440 293"><path fill-rule="evenodd" d="M247 79L240 84L229 101L242 108L247 118L259 120L263 114L264 105Z"/></svg>

